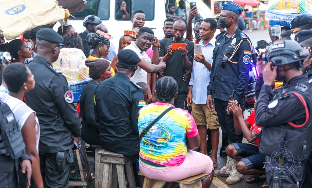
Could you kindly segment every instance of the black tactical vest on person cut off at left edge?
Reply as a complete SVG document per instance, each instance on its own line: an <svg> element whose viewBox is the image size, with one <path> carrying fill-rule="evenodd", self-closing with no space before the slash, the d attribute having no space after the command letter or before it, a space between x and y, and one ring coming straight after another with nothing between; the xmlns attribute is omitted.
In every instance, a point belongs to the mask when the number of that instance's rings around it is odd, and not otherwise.
<svg viewBox="0 0 312 188"><path fill-rule="evenodd" d="M0 155L18 159L25 151L21 130L10 107L0 101Z"/></svg>

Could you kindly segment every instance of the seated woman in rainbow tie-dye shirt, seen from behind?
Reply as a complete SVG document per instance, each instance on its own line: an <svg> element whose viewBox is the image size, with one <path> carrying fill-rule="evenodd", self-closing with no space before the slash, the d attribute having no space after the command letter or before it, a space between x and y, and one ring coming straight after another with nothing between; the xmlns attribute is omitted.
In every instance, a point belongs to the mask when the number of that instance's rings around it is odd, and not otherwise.
<svg viewBox="0 0 312 188"><path fill-rule="evenodd" d="M139 112L139 134L167 108L173 107L178 84L169 76L156 83L158 103L144 106ZM210 187L214 175L209 156L191 149L198 148L200 139L196 123L187 110L174 108L156 122L141 140L139 168L154 180L167 181L164 187L175 187L182 180L198 174L208 174L202 187ZM189 150L188 150L189 149Z"/></svg>

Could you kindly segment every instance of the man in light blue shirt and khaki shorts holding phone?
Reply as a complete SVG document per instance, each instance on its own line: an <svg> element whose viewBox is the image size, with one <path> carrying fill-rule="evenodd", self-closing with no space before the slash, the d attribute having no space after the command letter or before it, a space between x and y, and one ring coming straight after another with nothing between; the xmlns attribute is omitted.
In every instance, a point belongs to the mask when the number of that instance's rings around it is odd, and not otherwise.
<svg viewBox="0 0 312 188"><path fill-rule="evenodd" d="M197 125L200 137L201 153L207 155L207 127L212 133L212 155L214 168L217 167L217 150L219 145L219 121L216 111L210 111L206 104L207 85L210 80L213 49L215 45L214 34L217 22L213 18L206 18L200 25L199 35L201 41L197 45L202 47L202 53L194 52L194 62L190 80L190 88L187 97L188 105L192 106L192 116Z"/></svg>

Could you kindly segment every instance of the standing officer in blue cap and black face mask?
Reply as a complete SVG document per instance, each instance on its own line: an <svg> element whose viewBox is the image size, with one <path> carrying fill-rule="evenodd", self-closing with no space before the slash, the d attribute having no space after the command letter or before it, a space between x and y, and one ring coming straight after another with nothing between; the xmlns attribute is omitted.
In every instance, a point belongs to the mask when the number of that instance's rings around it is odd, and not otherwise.
<svg viewBox="0 0 312 188"><path fill-rule="evenodd" d="M238 17L243 9L232 1L222 1L219 25L227 28L216 37L210 83L207 86L207 106L212 110L214 99L219 123L228 143L241 143L242 135L236 135L233 115L227 115L228 100L234 92L236 103L244 103L249 82L251 43L238 27Z"/></svg>

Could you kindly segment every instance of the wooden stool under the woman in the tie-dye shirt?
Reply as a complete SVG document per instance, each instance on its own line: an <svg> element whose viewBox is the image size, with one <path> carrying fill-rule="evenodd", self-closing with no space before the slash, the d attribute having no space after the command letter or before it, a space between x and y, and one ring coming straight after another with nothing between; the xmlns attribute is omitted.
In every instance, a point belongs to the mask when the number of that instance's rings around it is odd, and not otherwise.
<svg viewBox="0 0 312 188"><path fill-rule="evenodd" d="M144 176L141 172L139 172L139 175ZM207 174L199 174L175 182L180 184L180 188L202 188L202 182L200 180L205 179L206 177L208 177ZM143 188L162 188L166 183L166 181L152 180L144 177Z"/></svg>

